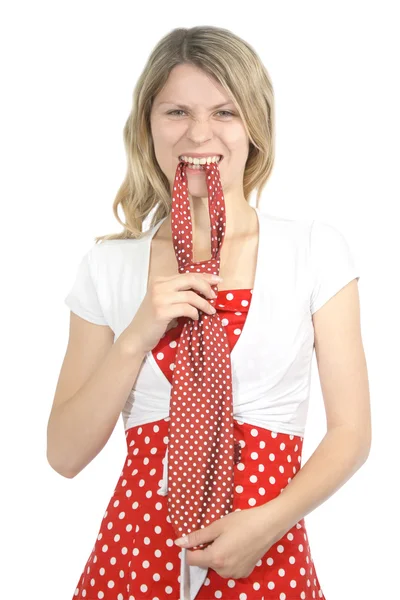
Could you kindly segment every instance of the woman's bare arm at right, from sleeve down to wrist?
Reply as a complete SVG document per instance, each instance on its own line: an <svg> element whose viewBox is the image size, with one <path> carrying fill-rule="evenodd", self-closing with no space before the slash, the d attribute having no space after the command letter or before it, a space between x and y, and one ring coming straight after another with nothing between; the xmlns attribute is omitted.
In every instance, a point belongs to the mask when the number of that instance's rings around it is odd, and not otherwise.
<svg viewBox="0 0 400 600"><path fill-rule="evenodd" d="M367 365L353 280L313 315L328 431L307 463L265 510L284 535L365 463L371 447Z"/></svg>

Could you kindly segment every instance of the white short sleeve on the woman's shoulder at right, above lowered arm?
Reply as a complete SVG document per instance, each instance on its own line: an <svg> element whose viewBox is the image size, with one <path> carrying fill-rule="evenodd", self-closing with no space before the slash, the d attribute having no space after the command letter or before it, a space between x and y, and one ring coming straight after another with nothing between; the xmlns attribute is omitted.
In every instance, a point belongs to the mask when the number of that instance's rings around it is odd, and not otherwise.
<svg viewBox="0 0 400 600"><path fill-rule="evenodd" d="M345 236L323 221L311 224L310 257L310 312L314 314L350 281L358 281L360 273Z"/></svg>

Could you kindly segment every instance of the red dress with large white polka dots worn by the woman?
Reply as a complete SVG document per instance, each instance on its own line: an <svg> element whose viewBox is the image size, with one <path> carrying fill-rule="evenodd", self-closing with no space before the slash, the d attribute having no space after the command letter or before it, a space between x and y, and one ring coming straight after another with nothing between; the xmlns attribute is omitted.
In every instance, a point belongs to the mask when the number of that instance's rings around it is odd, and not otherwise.
<svg viewBox="0 0 400 600"><path fill-rule="evenodd" d="M218 291L216 308L232 351L239 339L252 290ZM177 340L187 317L165 333L153 356L171 382ZM160 494L169 418L126 431L127 456L75 600L186 600L180 598L182 550ZM254 427L234 418L239 452L234 466L233 511L260 506L278 496L301 468L303 438ZM304 519L258 561L246 578L227 579L208 570L196 600L324 599ZM192 599L193 600L193 599Z"/></svg>

